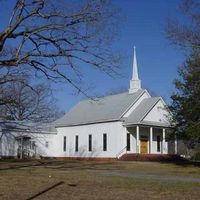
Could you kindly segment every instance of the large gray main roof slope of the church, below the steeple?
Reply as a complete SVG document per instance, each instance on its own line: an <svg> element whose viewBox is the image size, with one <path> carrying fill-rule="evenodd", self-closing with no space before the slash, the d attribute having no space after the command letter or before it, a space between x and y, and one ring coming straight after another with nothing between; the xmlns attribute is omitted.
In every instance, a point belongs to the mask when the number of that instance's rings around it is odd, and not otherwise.
<svg viewBox="0 0 200 200"><path fill-rule="evenodd" d="M120 120L122 114L143 92L144 90L138 90L133 94L121 93L99 98L97 101L81 101L55 122L56 127Z"/></svg>

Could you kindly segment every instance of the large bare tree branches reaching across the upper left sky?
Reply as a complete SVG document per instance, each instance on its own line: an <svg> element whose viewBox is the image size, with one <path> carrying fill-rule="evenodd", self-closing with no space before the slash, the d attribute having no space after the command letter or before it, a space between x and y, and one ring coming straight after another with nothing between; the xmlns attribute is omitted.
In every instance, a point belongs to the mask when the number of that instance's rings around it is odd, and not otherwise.
<svg viewBox="0 0 200 200"><path fill-rule="evenodd" d="M117 13L109 0L16 0L0 32L0 84L34 75L68 82L87 95L82 87L87 65L109 75L119 66L110 46Z"/></svg>

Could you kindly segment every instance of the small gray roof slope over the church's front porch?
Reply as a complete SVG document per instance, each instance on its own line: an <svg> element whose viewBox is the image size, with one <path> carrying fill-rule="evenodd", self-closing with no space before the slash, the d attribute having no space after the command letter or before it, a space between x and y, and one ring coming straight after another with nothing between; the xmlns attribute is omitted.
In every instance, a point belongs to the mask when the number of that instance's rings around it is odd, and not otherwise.
<svg viewBox="0 0 200 200"><path fill-rule="evenodd" d="M138 107L125 119L124 124L139 123L159 100L160 97L151 97L142 100Z"/></svg>

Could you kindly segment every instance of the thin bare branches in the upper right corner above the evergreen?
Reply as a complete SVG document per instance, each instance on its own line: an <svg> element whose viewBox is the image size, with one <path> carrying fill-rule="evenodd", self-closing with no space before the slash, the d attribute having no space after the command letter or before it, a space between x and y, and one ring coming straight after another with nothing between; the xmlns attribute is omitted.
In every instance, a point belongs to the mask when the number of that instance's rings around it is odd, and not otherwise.
<svg viewBox="0 0 200 200"><path fill-rule="evenodd" d="M200 48L200 2L183 0L179 18L169 18L165 33L169 40L186 50Z"/></svg>

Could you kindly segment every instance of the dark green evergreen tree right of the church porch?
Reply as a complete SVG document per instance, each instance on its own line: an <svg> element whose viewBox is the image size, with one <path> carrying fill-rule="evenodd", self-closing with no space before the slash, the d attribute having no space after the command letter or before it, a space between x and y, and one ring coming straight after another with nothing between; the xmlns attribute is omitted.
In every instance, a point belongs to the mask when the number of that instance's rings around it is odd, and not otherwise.
<svg viewBox="0 0 200 200"><path fill-rule="evenodd" d="M175 134L188 148L200 143L200 50L195 49L179 68L171 110Z"/></svg>

